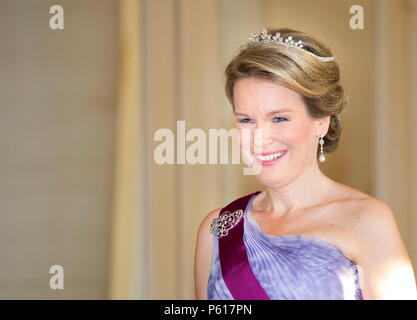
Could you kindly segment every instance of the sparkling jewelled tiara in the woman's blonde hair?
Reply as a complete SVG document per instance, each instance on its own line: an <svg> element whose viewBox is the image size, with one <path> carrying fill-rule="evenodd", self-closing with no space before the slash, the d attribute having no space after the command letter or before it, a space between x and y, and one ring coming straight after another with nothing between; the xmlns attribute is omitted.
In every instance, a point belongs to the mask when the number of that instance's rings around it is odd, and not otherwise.
<svg viewBox="0 0 417 320"><path fill-rule="evenodd" d="M262 29L260 34L252 33L252 35L249 37L249 42L247 44L248 47L255 47L259 45L282 45L286 47L297 48L323 62L330 62L334 59L334 57L320 57L306 49L303 49L302 41L294 40L291 36L283 39L281 38L281 34L279 32L277 32L274 36L272 34L268 34L268 30L265 28Z"/></svg>

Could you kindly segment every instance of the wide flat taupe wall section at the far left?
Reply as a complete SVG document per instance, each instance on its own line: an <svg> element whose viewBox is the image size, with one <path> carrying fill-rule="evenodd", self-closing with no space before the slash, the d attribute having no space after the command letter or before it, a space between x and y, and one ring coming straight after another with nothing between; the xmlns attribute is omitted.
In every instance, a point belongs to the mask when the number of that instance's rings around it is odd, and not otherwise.
<svg viewBox="0 0 417 320"><path fill-rule="evenodd" d="M117 5L0 1L0 298L108 292ZM49 268L64 268L64 290Z"/></svg>

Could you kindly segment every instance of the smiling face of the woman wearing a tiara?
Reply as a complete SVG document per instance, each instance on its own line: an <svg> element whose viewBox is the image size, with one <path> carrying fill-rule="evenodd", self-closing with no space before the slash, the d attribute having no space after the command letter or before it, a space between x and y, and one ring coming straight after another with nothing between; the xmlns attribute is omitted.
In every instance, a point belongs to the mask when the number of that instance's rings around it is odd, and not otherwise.
<svg viewBox="0 0 417 320"><path fill-rule="evenodd" d="M241 148L245 143L242 130L248 129L251 139L246 147L249 157L261 166L257 178L262 184L285 185L317 165L317 121L308 115L299 93L276 83L245 78L234 86L234 103ZM258 141L255 129L261 129ZM278 157L282 152L285 154Z"/></svg>

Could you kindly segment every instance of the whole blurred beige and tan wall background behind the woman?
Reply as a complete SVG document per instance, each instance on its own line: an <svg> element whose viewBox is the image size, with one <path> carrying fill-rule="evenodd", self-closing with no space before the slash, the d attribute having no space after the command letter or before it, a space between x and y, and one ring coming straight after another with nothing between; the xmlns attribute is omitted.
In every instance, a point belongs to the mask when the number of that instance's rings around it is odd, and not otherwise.
<svg viewBox="0 0 417 320"><path fill-rule="evenodd" d="M391 207L416 268L417 0L0 0L1 299L194 298L201 220L263 188L158 165L154 134L233 128L223 70L264 26L332 49L349 103L320 167Z"/></svg>

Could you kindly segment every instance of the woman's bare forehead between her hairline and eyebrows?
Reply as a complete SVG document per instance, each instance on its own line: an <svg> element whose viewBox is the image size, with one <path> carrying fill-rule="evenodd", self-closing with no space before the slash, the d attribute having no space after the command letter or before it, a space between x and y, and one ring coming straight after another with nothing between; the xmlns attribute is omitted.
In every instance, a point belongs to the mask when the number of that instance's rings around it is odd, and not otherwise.
<svg viewBox="0 0 417 320"><path fill-rule="evenodd" d="M236 82L234 89L235 112L269 112L276 109L291 109L302 112L302 96L280 84L245 78Z"/></svg>

